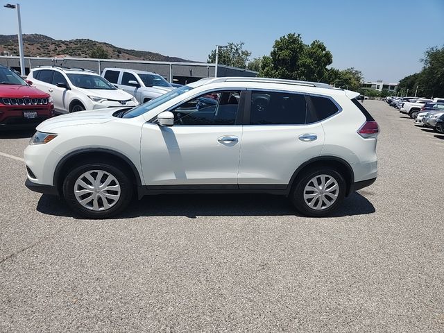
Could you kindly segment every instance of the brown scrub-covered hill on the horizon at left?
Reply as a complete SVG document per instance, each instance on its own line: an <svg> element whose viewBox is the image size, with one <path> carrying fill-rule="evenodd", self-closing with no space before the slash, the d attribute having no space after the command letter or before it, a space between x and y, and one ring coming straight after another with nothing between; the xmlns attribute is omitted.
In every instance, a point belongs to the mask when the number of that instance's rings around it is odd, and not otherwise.
<svg viewBox="0 0 444 333"><path fill-rule="evenodd" d="M177 57L164 56L149 51L128 50L96 40L54 40L39 34L23 35L24 56L49 57L71 56L76 58L104 58L123 60L153 60L189 62ZM9 52L19 55L17 35L0 35L0 54Z"/></svg>

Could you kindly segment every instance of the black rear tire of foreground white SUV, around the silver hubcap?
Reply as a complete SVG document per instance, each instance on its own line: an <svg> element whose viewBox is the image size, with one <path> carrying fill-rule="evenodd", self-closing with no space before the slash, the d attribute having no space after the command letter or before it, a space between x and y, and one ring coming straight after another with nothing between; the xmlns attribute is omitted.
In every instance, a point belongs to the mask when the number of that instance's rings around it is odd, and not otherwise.
<svg viewBox="0 0 444 333"><path fill-rule="evenodd" d="M309 182L316 177L316 176L329 176L332 177L334 180L336 180L336 184L338 185L338 191L335 194L337 195L336 200L330 205L330 207L325 207L321 210L316 210L306 203L304 199L304 190L307 185L309 185ZM343 175L337 171L336 169L328 168L328 167L321 167L316 168L313 170L309 170L305 173L303 173L300 177L297 178L296 183L293 185L293 189L290 193L290 199L291 203L293 203L294 207L296 207L296 210L301 212L302 214L306 216L313 216L313 217L322 217L327 216L336 209L339 205L341 205L344 197L345 197L345 191L346 191L347 184L345 182L345 179ZM329 187L326 187L329 188ZM312 199L314 200L314 199ZM320 200L320 199L318 199ZM316 205L316 202L315 202ZM323 204L322 204L323 205Z"/></svg>

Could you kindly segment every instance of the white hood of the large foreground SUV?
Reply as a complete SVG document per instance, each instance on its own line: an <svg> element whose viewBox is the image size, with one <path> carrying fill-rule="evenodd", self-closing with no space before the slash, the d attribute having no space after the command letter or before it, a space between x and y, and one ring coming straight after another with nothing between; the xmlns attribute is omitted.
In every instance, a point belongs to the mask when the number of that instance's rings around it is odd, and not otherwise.
<svg viewBox="0 0 444 333"><path fill-rule="evenodd" d="M92 123L107 123L116 119L112 116L114 112L121 108L106 108L94 111L80 111L45 120L37 126L40 132L53 133L56 128L65 126L86 125Z"/></svg>

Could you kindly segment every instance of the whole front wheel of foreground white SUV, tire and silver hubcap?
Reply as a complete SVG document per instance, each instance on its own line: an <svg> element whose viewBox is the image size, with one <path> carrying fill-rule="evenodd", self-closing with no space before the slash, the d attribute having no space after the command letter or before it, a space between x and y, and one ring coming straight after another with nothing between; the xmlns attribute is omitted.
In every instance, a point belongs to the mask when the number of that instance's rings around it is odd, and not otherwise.
<svg viewBox="0 0 444 333"><path fill-rule="evenodd" d="M74 212L90 219L105 219L130 203L133 183L118 164L85 163L69 171L63 182L63 196Z"/></svg>

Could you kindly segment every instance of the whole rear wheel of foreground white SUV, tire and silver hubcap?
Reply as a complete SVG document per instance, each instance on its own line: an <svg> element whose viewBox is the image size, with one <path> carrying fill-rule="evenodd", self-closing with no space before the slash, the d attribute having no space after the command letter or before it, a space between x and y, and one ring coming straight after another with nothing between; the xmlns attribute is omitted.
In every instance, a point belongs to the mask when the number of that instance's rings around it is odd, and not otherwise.
<svg viewBox="0 0 444 333"><path fill-rule="evenodd" d="M307 216L327 216L345 197L346 183L335 169L321 168L304 173L291 193L296 209Z"/></svg>

